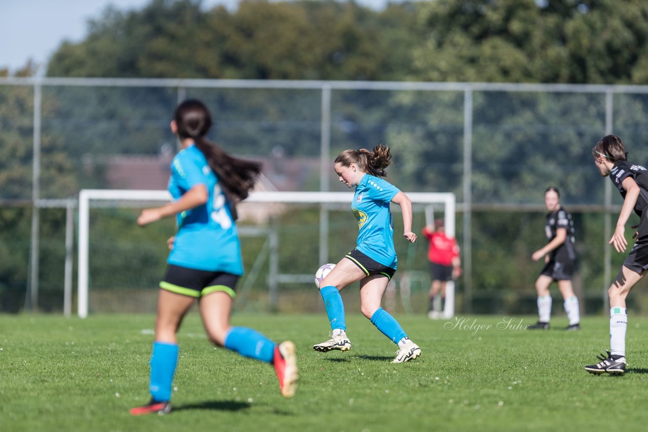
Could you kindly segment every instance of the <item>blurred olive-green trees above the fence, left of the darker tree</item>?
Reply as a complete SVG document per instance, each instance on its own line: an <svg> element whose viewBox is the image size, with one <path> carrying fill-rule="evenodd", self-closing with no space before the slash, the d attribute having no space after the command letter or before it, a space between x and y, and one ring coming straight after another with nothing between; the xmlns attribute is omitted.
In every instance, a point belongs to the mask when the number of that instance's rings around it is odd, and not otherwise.
<svg viewBox="0 0 648 432"><path fill-rule="evenodd" d="M415 8L353 1L200 1L108 8L81 43L65 42L49 76L397 80L411 73ZM106 61L106 59L110 59Z"/></svg>

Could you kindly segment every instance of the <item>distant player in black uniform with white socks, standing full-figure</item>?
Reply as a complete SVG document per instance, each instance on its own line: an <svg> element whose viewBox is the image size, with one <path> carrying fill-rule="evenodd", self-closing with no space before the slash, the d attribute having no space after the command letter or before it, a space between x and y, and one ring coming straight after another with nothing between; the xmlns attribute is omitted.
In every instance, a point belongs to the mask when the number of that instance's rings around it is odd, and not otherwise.
<svg viewBox="0 0 648 432"><path fill-rule="evenodd" d="M538 291L538 323L529 329L548 329L551 317L551 282L557 282L564 299L565 312L569 319L567 330L579 330L581 321L578 298L573 293L572 274L576 260L573 238L572 215L561 206L561 193L555 187L544 191L544 204L547 206L546 225L548 243L531 255L534 261L544 256L546 263L535 281Z"/></svg>

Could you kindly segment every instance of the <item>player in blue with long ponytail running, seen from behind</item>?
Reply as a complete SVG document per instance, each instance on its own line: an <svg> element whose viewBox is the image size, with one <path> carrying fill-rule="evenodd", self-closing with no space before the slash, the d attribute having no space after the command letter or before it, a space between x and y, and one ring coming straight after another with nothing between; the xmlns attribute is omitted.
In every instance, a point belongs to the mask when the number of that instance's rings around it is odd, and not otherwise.
<svg viewBox="0 0 648 432"><path fill-rule="evenodd" d="M207 140L211 124L211 115L202 102L186 100L179 104L171 122L171 131L181 143L168 183L173 201L143 210L137 219L144 226L177 216L178 232L169 239L167 273L160 282L150 359L151 400L133 408L133 415L170 412L179 352L176 332L195 299L214 345L272 363L281 394L290 397L295 393L294 344L284 341L277 345L255 330L229 325L235 286L243 274L236 205L247 198L260 164L231 157Z"/></svg>

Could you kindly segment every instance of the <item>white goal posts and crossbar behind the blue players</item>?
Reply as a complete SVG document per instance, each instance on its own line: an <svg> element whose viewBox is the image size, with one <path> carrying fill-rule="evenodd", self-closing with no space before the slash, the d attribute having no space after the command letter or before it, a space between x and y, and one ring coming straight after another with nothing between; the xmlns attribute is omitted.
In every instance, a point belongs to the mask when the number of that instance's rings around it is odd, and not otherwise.
<svg viewBox="0 0 648 432"><path fill-rule="evenodd" d="M442 204L445 214L445 231L455 235L456 198L451 192L406 192L413 204ZM352 192L252 192L246 203L351 203ZM167 190L124 190L124 189L82 189L78 195L78 316L86 318L88 313L89 273L89 227L91 201L141 201L154 202L171 200ZM329 234L328 220L320 222L320 238ZM319 260L327 259L327 246L320 242ZM446 284L446 305L443 315L454 315L454 282Z"/></svg>

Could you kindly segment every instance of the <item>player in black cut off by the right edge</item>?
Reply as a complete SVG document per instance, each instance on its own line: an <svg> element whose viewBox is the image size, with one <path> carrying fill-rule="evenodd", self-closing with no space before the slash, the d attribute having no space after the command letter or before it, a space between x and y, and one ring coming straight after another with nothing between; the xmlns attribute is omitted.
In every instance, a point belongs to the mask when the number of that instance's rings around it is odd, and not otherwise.
<svg viewBox="0 0 648 432"><path fill-rule="evenodd" d="M610 298L610 350L599 356L596 365L588 365L585 370L592 374L623 374L625 372L625 330L628 326L628 311L625 298L639 282L648 269L648 171L641 165L627 161L628 153L619 137L606 135L592 149L594 163L601 176L610 177L623 197L623 206L616 222L616 229L610 239L617 252L624 252L628 242L625 240L625 223L632 210L639 216L640 222L632 228L639 228L632 238L634 246L619 269L614 282L608 288Z"/></svg>

